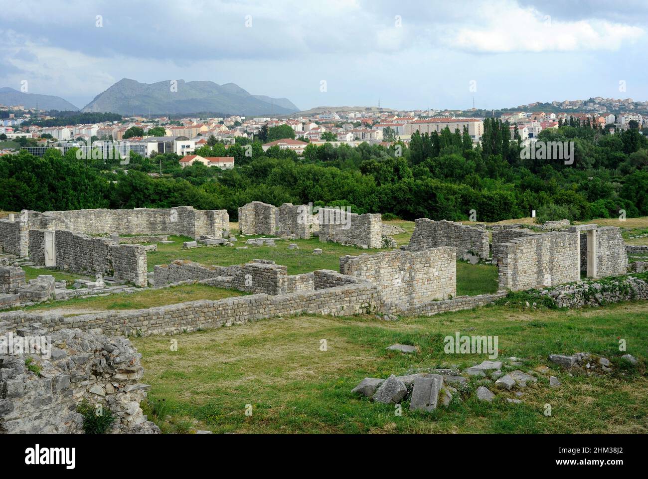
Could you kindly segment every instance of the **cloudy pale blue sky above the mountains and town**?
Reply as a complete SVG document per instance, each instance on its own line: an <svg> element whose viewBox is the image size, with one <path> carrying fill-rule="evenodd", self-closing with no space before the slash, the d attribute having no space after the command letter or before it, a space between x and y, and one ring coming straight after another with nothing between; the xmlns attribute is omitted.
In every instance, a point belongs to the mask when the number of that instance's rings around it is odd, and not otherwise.
<svg viewBox="0 0 648 479"><path fill-rule="evenodd" d="M645 0L0 0L0 34L0 87L79 107L124 77L304 110L648 99Z"/></svg>

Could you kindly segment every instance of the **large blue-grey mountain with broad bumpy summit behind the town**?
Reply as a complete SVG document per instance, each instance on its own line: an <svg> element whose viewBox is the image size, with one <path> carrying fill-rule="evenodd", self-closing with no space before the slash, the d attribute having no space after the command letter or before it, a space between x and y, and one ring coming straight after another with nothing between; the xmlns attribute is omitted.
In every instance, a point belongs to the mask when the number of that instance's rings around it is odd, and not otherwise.
<svg viewBox="0 0 648 479"><path fill-rule="evenodd" d="M152 84L122 78L100 93L81 111L120 115L159 115L213 111L226 115L284 115L299 111L285 98L251 95L237 84L165 80Z"/></svg>

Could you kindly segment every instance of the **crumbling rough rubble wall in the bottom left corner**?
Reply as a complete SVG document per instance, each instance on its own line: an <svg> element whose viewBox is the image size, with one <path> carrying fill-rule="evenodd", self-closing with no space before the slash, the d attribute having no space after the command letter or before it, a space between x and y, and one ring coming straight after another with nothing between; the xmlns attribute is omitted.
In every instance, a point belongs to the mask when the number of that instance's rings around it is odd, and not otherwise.
<svg viewBox="0 0 648 479"><path fill-rule="evenodd" d="M98 404L110 408L116 418L110 432L159 432L140 407L147 388L139 382L144 369L141 354L127 339L80 329L48 333L33 325L16 329L0 323L5 340L45 334L51 336L50 358L0 355L0 434L83 434L77 407L84 400L93 409ZM28 357L41 368L40 375L25 366Z"/></svg>

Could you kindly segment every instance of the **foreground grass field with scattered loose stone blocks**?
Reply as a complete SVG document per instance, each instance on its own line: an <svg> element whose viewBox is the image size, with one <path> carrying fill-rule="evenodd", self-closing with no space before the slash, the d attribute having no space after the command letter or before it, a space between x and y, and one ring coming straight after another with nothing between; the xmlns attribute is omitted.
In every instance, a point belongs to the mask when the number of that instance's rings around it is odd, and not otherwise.
<svg viewBox="0 0 648 479"><path fill-rule="evenodd" d="M373 316L296 316L174 336L134 338L143 353L144 382L152 389L145 404L163 432L208 429L216 433L634 433L648 432L647 303L583 310L488 307L433 318L379 321ZM417 368L472 366L485 355L446 355L443 338L456 331L496 335L500 360L526 358L520 369L538 372L522 404L509 404L513 391L494 403L474 399L475 380L448 409L402 415L394 406L371 403L351 389L364 377L386 378ZM619 338L640 360L620 359ZM327 351L320 351L320 340ZM386 351L394 343L419 346L416 355ZM606 376L570 375L548 364L550 353L590 351L612 362ZM537 369L539 371L539 369ZM555 375L559 388L549 388ZM492 386L492 384L491 384ZM246 416L246 405L253 414ZM544 415L551 404L552 415Z"/></svg>

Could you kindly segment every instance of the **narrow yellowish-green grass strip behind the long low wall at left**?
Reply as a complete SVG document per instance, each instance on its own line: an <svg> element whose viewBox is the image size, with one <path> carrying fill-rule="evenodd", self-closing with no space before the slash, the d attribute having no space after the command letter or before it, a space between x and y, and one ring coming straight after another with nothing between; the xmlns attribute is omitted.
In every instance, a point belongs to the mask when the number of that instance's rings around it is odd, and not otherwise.
<svg viewBox="0 0 648 479"><path fill-rule="evenodd" d="M67 301L52 301L23 308L23 310L47 310L63 308L67 316L83 314L84 311L104 311L121 309L142 309L162 305L196 301L197 299L224 299L232 296L242 296L248 293L214 288L207 285L181 285L168 288L148 289L133 293L111 294L110 296L97 296L95 298L73 298Z"/></svg>

